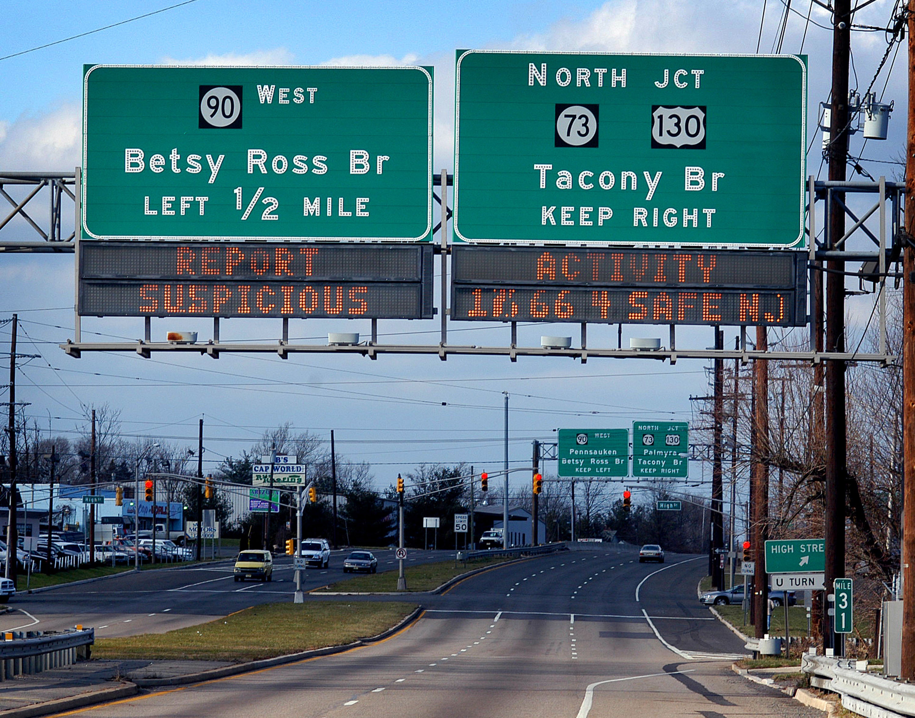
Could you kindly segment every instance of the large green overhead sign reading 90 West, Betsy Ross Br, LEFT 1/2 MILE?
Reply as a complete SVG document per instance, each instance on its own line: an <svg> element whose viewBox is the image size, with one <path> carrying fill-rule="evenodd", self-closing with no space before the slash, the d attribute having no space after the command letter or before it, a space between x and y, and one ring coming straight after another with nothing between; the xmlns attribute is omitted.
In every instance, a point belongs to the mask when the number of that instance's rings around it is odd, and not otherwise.
<svg viewBox="0 0 915 718"><path fill-rule="evenodd" d="M432 71L87 66L82 233L419 241Z"/></svg>

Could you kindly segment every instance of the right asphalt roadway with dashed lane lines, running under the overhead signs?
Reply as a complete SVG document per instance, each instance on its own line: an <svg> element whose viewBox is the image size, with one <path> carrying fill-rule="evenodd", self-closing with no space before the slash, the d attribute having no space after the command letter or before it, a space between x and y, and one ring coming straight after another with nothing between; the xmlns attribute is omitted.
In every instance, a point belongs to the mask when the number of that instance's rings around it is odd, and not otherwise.
<svg viewBox="0 0 915 718"><path fill-rule="evenodd" d="M730 671L743 648L696 600L705 561L603 550L495 568L380 643L70 712L98 718L820 718Z"/></svg>

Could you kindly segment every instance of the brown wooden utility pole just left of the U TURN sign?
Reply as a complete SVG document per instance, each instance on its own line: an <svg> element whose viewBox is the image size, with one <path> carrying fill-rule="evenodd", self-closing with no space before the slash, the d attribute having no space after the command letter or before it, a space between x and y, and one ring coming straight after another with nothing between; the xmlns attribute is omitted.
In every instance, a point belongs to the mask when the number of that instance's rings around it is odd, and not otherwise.
<svg viewBox="0 0 915 718"><path fill-rule="evenodd" d="M766 327L756 328L756 349L765 352L769 348ZM768 632L766 626L769 607L769 581L766 575L765 542L769 539L769 360L753 361L753 473L751 524L753 538L750 547L756 572L753 576L755 601L753 602L753 624L756 637Z"/></svg>

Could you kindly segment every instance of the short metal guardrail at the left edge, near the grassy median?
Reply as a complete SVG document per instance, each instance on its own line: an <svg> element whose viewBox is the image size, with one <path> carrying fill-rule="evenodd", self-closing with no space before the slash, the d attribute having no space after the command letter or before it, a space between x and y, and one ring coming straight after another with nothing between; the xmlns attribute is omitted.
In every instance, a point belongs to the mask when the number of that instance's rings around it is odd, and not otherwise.
<svg viewBox="0 0 915 718"><path fill-rule="evenodd" d="M24 673L40 673L89 658L95 629L11 631L0 641L0 681Z"/></svg>

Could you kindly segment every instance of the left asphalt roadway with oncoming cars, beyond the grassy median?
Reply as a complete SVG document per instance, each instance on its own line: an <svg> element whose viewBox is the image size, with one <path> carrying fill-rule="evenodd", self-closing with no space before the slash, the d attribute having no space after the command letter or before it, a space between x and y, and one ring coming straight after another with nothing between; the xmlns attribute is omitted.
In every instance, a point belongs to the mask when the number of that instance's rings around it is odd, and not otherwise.
<svg viewBox="0 0 915 718"><path fill-rule="evenodd" d="M328 569L302 571L302 589L350 578L343 559L350 550L331 551ZM396 568L393 549L374 550L379 571ZM405 565L454 558L454 551L411 549ZM60 630L81 624L99 637L165 633L196 626L257 604L291 601L296 591L291 556L274 559L269 583L232 580L233 560L152 571L130 571L100 581L64 584L50 591L18 593L11 613L0 615L0 631ZM408 574L409 575L409 574Z"/></svg>

